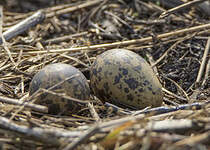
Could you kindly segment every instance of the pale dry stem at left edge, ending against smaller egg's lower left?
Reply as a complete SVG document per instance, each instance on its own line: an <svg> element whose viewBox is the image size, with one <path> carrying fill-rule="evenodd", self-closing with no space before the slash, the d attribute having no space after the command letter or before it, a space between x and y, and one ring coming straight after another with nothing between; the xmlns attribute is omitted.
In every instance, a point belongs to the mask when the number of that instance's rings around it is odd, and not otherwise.
<svg viewBox="0 0 210 150"><path fill-rule="evenodd" d="M8 98L8 97L3 97L0 96L0 102L3 103L7 103L7 104L12 104L12 105L25 105L25 107L31 108L34 111L38 111L38 112L48 112L48 108L42 105L37 105L37 104L30 104L28 102L21 102L17 99L12 99L12 98Z"/></svg>

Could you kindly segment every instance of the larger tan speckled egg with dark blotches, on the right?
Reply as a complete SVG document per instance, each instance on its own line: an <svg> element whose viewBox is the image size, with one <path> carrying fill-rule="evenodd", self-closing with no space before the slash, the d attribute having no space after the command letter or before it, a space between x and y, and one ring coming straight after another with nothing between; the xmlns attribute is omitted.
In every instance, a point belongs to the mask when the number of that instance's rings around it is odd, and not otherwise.
<svg viewBox="0 0 210 150"><path fill-rule="evenodd" d="M94 94L105 102L142 109L161 106L161 84L150 65L138 54L125 49L98 55L90 70Z"/></svg>

